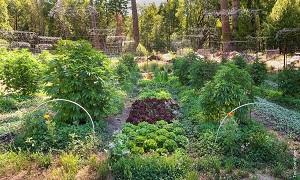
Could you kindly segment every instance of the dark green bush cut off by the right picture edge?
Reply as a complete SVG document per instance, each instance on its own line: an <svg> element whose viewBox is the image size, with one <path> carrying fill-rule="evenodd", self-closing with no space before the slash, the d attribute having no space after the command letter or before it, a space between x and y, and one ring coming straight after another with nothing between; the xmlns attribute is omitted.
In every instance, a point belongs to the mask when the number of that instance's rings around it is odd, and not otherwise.
<svg viewBox="0 0 300 180"><path fill-rule="evenodd" d="M300 70L289 68L278 74L279 89L283 95L299 96L300 95Z"/></svg>

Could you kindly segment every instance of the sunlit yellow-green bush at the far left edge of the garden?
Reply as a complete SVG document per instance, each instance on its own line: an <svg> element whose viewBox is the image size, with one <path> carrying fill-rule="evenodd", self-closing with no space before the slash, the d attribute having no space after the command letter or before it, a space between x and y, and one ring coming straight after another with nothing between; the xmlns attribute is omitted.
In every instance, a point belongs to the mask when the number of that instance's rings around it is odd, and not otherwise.
<svg viewBox="0 0 300 180"><path fill-rule="evenodd" d="M30 52L13 51L5 58L0 78L8 89L30 95L38 90L40 70L40 64Z"/></svg>

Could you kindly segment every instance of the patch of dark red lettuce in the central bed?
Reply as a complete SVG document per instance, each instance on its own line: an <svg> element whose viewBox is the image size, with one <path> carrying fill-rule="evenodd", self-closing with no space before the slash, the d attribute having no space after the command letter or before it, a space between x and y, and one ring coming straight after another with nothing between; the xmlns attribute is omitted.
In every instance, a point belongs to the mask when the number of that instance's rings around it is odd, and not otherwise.
<svg viewBox="0 0 300 180"><path fill-rule="evenodd" d="M153 124L159 120L171 122L176 117L178 109L178 104L173 100L136 100L132 104L127 122L133 124L138 124L143 121Z"/></svg>

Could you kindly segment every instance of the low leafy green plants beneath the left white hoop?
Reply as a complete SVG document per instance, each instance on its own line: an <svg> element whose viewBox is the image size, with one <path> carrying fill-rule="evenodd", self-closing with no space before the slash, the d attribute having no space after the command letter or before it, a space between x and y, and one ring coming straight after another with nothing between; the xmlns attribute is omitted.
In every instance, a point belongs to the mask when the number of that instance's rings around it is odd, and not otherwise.
<svg viewBox="0 0 300 180"><path fill-rule="evenodd" d="M28 115L24 117L24 124L16 135L14 147L30 152L50 152L52 150L70 150L80 154L95 148L97 139L90 138L92 129L90 124L68 125L55 122L53 117L46 113ZM48 116L48 117L47 117ZM104 125L95 123L96 131L103 131ZM90 149L88 149L90 148Z"/></svg>

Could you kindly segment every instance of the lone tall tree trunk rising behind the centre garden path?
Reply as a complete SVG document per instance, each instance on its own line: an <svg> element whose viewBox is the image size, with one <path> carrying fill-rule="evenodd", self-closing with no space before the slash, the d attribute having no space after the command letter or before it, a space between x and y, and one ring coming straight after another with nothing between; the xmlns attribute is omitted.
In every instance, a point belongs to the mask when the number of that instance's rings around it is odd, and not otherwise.
<svg viewBox="0 0 300 180"><path fill-rule="evenodd" d="M131 8L132 8L134 50L136 50L137 46L140 43L139 17L137 13L136 0L131 0Z"/></svg>

